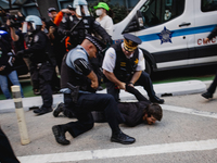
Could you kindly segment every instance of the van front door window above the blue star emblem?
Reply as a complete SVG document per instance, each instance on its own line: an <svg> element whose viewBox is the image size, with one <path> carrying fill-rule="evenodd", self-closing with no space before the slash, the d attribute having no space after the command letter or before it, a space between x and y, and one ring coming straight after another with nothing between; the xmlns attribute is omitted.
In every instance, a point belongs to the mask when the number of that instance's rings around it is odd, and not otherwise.
<svg viewBox="0 0 217 163"><path fill-rule="evenodd" d="M184 0L148 0L140 12L144 26L151 27L170 21L183 13Z"/></svg>

